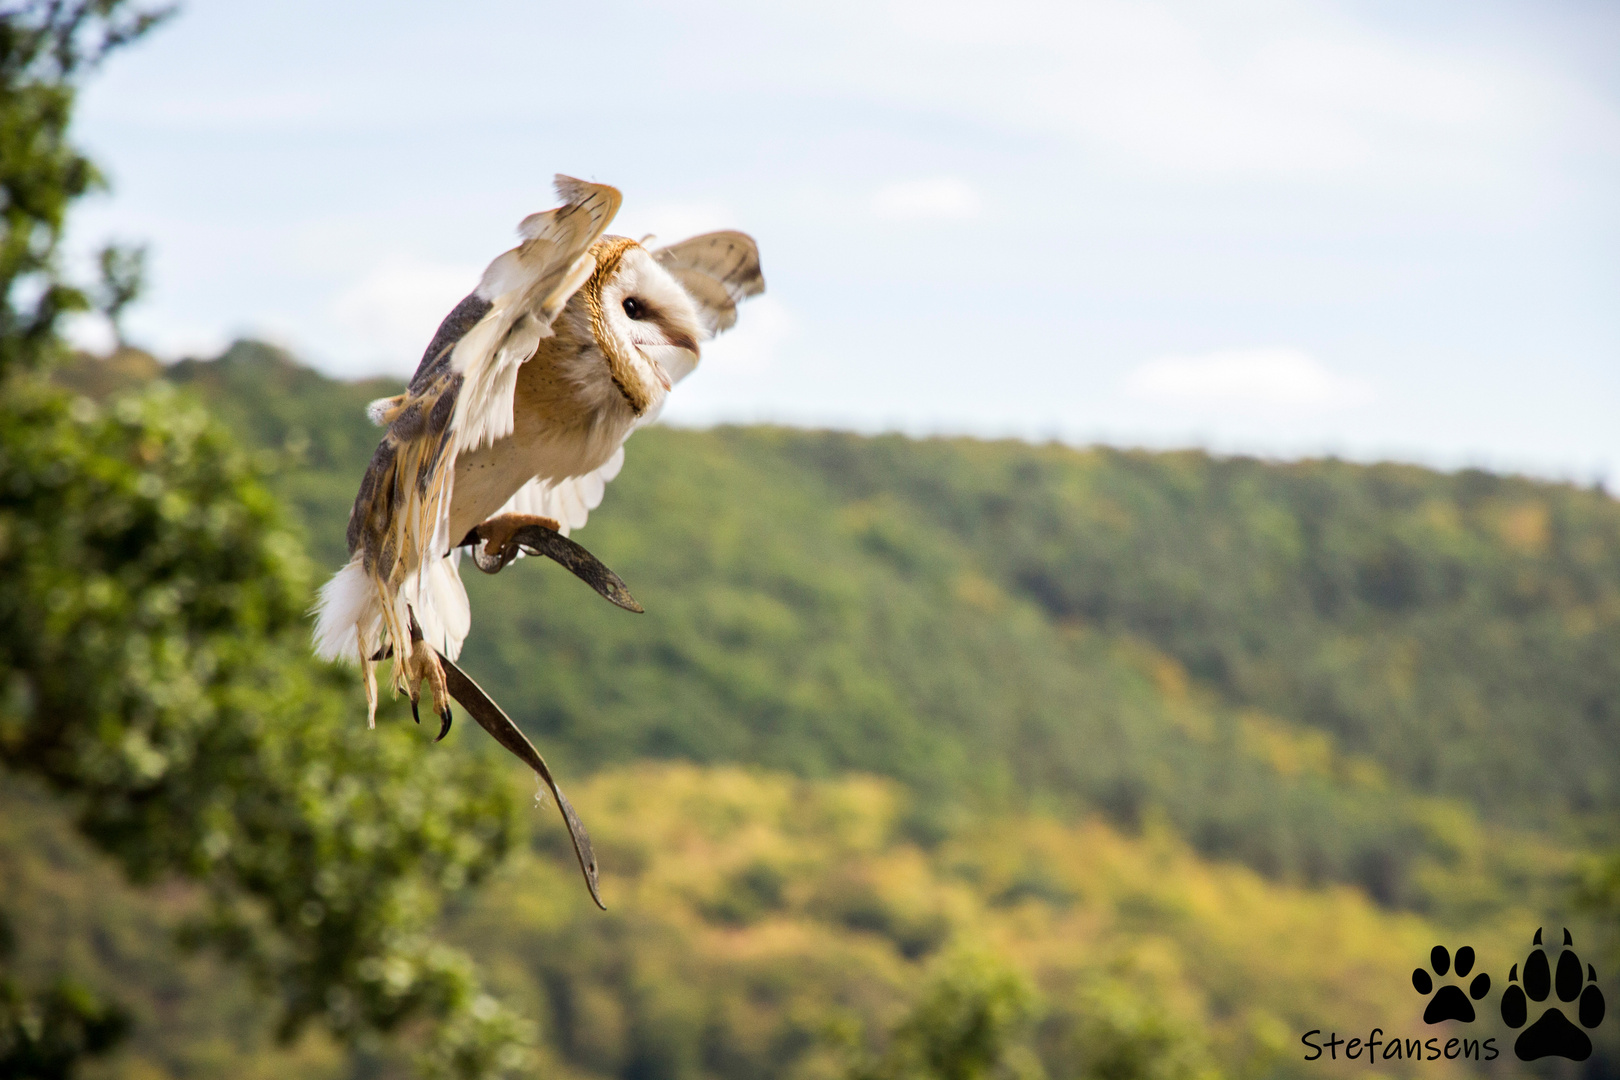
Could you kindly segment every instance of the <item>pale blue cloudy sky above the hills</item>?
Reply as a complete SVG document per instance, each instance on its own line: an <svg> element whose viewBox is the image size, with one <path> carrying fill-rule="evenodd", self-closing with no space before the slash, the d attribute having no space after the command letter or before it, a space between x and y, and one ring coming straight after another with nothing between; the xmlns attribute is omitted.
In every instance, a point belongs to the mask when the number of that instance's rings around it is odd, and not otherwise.
<svg viewBox="0 0 1620 1080"><path fill-rule="evenodd" d="M159 355L408 374L564 172L758 240L669 423L1614 486L1615 55L1609 0L188 0L81 97L70 249L151 246Z"/></svg>

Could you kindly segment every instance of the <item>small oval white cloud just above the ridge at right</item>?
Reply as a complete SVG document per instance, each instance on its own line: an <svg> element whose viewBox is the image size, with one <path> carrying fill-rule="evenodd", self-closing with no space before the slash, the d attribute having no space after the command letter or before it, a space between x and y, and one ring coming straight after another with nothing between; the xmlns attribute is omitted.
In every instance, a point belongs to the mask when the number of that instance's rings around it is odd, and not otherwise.
<svg viewBox="0 0 1620 1080"><path fill-rule="evenodd" d="M1163 356L1129 372L1128 397L1166 405L1333 410L1372 400L1372 387L1296 348L1225 348Z"/></svg>

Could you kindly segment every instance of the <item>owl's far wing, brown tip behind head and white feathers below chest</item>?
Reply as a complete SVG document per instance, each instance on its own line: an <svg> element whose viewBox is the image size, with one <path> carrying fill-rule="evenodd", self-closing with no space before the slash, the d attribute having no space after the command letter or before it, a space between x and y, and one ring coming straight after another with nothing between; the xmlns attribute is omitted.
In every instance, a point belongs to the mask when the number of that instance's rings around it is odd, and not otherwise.
<svg viewBox="0 0 1620 1080"><path fill-rule="evenodd" d="M698 306L698 316L710 337L737 324L737 304L765 291L760 272L760 248L753 236L739 232L705 233L653 251L653 257L680 282ZM671 350L674 351L674 350ZM666 356L664 369L672 382L680 382L697 366L688 353L679 359ZM646 418L650 423L653 416ZM585 525L585 518L601 505L603 491L624 468L624 444L601 468L548 483L531 479L501 507L502 513L538 513L554 518L567 536Z"/></svg>

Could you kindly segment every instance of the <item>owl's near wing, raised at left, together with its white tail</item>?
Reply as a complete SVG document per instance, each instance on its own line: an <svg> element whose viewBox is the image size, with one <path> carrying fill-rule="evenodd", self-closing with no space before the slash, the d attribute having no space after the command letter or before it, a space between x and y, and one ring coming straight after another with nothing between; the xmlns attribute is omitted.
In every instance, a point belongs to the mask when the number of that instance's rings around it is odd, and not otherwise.
<svg viewBox="0 0 1620 1080"><path fill-rule="evenodd" d="M465 593L457 580L455 604L439 580L455 576L439 565L452 542L455 458L512 432L518 368L590 279L590 248L619 210L614 188L561 175L556 185L562 206L523 219L522 243L444 319L405 393L371 406L387 434L350 512L350 565L321 593L316 651L360 661L373 711L373 657L392 646L403 680L413 617L436 648L465 636L465 627L446 625L465 622Z"/></svg>

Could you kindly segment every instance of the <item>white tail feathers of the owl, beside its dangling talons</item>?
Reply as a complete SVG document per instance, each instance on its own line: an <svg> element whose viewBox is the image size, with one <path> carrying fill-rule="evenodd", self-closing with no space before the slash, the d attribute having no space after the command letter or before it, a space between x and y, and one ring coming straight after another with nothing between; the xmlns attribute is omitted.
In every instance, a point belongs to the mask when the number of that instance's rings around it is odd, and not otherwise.
<svg viewBox="0 0 1620 1080"><path fill-rule="evenodd" d="M400 589L366 573L363 559L356 554L332 580L321 586L314 606L314 654L324 661L348 661L358 664L366 685L366 714L376 725L377 678L376 661L394 646L394 683L403 678L402 657L410 643L395 641L416 615L421 635L449 659L462 654L462 643L473 625L467 588L458 572L460 551L444 559L434 559L420 580L407 581ZM392 599L394 619L387 619Z"/></svg>

